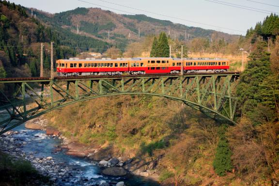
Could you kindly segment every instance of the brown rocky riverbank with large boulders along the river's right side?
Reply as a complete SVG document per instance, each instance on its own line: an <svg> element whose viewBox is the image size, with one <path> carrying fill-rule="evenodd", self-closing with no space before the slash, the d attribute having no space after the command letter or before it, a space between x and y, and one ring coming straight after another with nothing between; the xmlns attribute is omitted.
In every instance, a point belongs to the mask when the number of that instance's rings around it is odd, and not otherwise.
<svg viewBox="0 0 279 186"><path fill-rule="evenodd" d="M86 158L98 162L102 174L107 176L126 176L128 173L142 177L149 177L158 181L155 162L145 162L139 158L121 156L112 146L100 146L97 144L82 144L75 139L67 139L62 136L59 130L47 126L48 121L43 118L36 118L25 124L25 127L33 130L45 130L48 136L62 140L62 144L56 146L54 152L65 150L66 155L79 158Z"/></svg>

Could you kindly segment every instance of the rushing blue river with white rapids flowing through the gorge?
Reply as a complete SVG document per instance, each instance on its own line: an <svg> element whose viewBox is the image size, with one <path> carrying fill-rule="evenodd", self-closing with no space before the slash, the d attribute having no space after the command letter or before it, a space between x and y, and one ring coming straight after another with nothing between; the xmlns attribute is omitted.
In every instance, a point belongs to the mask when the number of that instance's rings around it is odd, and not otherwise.
<svg viewBox="0 0 279 186"><path fill-rule="evenodd" d="M0 111L0 117L7 117L7 114ZM47 136L45 131L26 129L25 124L17 126L13 131L0 137L4 141L2 145L7 147L6 152L25 157L38 170L44 170L46 175L56 175L56 186L115 186L121 181L125 186L159 186L151 179L132 174L125 177L105 176L101 174L98 162L66 155L64 151L54 153L62 140ZM49 156L52 157L51 160L46 159ZM37 162L39 159L45 164Z"/></svg>

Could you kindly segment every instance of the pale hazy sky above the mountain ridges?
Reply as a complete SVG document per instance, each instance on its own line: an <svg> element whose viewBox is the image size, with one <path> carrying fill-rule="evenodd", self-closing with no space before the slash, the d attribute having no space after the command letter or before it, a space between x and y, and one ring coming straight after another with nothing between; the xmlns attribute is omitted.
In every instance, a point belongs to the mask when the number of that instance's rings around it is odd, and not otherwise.
<svg viewBox="0 0 279 186"><path fill-rule="evenodd" d="M53 14L77 7L99 7L117 14L144 14L186 26L242 35L246 34L248 28L254 27L256 22L263 21L271 12L279 14L279 0L10 0L10 2ZM242 8L235 7L237 5L241 5Z"/></svg>

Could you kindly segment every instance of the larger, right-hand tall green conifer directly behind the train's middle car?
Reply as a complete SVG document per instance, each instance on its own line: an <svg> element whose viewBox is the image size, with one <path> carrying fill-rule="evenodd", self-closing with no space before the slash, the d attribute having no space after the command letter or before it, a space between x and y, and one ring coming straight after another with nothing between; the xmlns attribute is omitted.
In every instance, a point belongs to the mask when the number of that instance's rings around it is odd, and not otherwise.
<svg viewBox="0 0 279 186"><path fill-rule="evenodd" d="M169 57L170 47L168 43L168 37L165 32L160 33L160 37L157 44L157 51L155 57Z"/></svg>

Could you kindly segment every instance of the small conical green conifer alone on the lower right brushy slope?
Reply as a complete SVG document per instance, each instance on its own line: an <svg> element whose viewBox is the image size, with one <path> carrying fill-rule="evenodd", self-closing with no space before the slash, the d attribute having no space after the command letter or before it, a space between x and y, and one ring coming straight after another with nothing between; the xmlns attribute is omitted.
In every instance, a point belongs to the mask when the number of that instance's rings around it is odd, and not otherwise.
<svg viewBox="0 0 279 186"><path fill-rule="evenodd" d="M213 161L213 167L215 172L219 176L226 175L226 172L233 170L233 165L231 161L232 151L229 147L228 140L225 137L224 126L219 128L219 141L216 149L215 159Z"/></svg>

